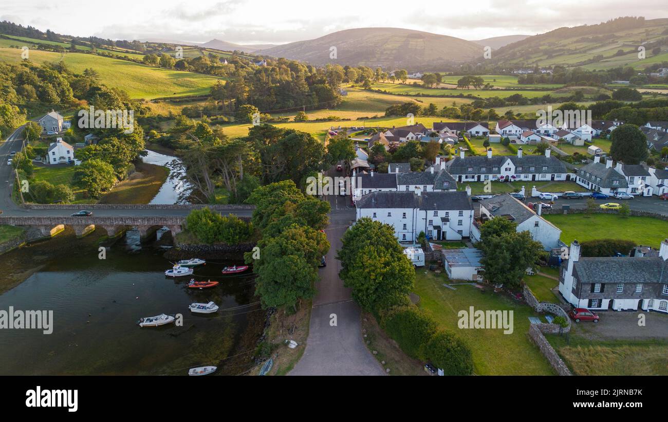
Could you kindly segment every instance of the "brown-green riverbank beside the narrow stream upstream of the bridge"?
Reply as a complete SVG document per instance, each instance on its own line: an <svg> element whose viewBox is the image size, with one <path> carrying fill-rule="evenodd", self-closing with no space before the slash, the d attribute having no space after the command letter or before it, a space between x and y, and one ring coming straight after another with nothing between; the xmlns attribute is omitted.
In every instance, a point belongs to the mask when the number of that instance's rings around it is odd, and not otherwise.
<svg viewBox="0 0 668 422"><path fill-rule="evenodd" d="M100 199L100 204L148 204L160 192L170 169L138 162L135 172Z"/></svg>

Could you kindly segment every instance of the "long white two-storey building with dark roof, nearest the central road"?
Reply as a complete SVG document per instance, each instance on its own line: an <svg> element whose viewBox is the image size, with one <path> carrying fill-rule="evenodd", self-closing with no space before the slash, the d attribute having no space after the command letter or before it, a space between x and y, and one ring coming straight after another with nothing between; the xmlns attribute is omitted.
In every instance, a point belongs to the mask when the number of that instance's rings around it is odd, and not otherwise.
<svg viewBox="0 0 668 422"><path fill-rule="evenodd" d="M466 192L372 192L355 204L357 219L390 224L400 242L413 242L420 232L437 240L470 236L473 206Z"/></svg>

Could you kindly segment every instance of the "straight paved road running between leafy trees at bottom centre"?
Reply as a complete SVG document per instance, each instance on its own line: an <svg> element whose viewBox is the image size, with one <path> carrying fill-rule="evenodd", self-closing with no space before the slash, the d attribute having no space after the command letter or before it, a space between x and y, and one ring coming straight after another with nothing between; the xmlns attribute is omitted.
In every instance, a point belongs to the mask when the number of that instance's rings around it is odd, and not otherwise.
<svg viewBox="0 0 668 422"><path fill-rule="evenodd" d="M329 175L341 176L332 171ZM355 219L355 210L346 208L350 196L331 196L329 202L333 212L325 230L331 243L327 266L320 269L306 350L290 375L385 375L364 344L359 306L351 299L350 289L343 287L339 278L341 262L335 259L341 236ZM337 320L335 327L330 325L333 315Z"/></svg>

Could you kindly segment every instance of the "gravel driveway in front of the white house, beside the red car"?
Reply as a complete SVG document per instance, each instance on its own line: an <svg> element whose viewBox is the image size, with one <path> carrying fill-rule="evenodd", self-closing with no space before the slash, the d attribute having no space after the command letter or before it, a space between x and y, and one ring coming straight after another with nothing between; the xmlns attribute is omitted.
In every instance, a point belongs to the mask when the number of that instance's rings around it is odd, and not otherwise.
<svg viewBox="0 0 668 422"><path fill-rule="evenodd" d="M617 339L666 339L668 338L668 315L659 312L597 312L599 323L573 323L571 333L591 340ZM640 314L645 315L645 326L638 325Z"/></svg>

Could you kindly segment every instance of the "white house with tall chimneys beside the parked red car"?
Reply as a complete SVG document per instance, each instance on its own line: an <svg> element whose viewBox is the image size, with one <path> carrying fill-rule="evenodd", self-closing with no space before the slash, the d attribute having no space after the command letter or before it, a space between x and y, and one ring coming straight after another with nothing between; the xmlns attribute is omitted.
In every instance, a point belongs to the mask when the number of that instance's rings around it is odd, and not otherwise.
<svg viewBox="0 0 668 422"><path fill-rule="evenodd" d="M561 266L559 292L578 308L668 313L667 259L668 239L658 254L596 258L581 257L573 240Z"/></svg>

